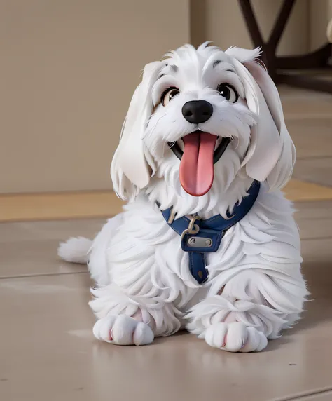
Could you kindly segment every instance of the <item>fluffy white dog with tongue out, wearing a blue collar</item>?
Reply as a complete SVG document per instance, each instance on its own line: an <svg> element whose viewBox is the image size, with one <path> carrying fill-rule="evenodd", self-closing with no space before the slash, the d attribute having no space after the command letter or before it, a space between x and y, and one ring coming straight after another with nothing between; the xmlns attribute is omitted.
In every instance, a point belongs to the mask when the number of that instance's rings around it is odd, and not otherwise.
<svg viewBox="0 0 332 401"><path fill-rule="evenodd" d="M303 311L298 228L280 191L296 153L258 55L203 43L144 68L111 164L129 203L93 242L59 248L97 283L97 339L143 345L186 328L261 351Z"/></svg>

